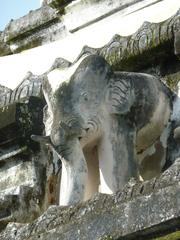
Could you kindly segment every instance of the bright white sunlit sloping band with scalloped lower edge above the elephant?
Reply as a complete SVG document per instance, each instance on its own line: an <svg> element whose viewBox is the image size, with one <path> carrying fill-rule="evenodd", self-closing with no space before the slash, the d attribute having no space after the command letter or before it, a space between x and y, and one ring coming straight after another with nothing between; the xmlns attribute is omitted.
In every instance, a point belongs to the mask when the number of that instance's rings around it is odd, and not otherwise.
<svg viewBox="0 0 180 240"><path fill-rule="evenodd" d="M69 33L65 39L19 54L0 57L0 84L14 89L28 71L42 74L57 57L73 61L84 45L102 47L115 34L127 36L134 33L144 21L164 21L176 13L180 8L180 1L164 0L139 11L136 11L136 5L133 8L129 7L125 14L117 12L74 34Z"/></svg>

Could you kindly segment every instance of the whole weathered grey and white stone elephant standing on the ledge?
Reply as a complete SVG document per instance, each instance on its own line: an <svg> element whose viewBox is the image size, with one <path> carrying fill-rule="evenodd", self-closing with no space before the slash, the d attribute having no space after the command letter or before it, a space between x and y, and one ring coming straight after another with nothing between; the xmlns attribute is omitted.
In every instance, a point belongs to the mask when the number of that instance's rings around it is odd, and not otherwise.
<svg viewBox="0 0 180 240"><path fill-rule="evenodd" d="M52 73L44 80L51 121L45 123L47 136L33 137L50 144L62 161L60 205L98 191L114 193L132 177L159 174L171 115L169 89L148 74L113 72L97 55L65 70L56 70L56 87Z"/></svg>

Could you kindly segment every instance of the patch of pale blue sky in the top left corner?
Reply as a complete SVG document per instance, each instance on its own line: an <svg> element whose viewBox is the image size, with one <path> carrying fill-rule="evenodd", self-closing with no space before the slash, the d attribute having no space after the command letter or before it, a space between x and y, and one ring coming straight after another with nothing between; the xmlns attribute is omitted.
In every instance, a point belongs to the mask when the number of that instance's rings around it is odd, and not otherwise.
<svg viewBox="0 0 180 240"><path fill-rule="evenodd" d="M0 31L11 19L26 15L40 7L40 0L0 0Z"/></svg>

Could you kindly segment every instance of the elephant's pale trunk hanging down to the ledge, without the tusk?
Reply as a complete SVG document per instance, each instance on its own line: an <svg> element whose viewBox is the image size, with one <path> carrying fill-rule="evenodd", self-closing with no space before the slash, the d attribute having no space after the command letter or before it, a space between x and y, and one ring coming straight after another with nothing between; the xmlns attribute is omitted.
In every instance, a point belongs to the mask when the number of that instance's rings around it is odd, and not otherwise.
<svg viewBox="0 0 180 240"><path fill-rule="evenodd" d="M58 131L53 132L51 138L55 151L62 161L59 204L66 206L81 202L84 199L88 168L78 135L64 122L60 123Z"/></svg>

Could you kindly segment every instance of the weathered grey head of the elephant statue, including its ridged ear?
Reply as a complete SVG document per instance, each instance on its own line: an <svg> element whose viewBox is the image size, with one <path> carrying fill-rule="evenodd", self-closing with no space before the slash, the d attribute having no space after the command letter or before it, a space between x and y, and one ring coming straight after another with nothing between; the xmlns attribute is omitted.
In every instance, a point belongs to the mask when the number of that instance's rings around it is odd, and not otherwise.
<svg viewBox="0 0 180 240"><path fill-rule="evenodd" d="M104 58L91 55L53 93L48 80L44 82L44 94L53 116L50 137L55 146L66 142L68 136L83 141L90 133L94 136L95 131L99 135L101 118L130 109L133 99L129 99L129 83L116 78Z"/></svg>

